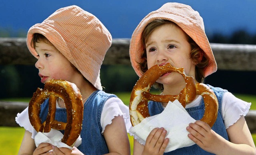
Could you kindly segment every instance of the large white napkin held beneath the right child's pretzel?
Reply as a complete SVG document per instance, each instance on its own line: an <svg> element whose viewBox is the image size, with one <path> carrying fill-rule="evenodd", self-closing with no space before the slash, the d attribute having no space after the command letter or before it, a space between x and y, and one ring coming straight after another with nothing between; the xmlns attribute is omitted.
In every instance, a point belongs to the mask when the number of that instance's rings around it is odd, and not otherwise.
<svg viewBox="0 0 256 155"><path fill-rule="evenodd" d="M186 127L189 123L196 122L178 100L168 102L161 114L145 118L136 126L130 128L130 134L145 145L146 138L154 128L163 127L167 131L166 137L169 138L168 146L164 152L170 152L182 147L188 147L195 143L188 138Z"/></svg>

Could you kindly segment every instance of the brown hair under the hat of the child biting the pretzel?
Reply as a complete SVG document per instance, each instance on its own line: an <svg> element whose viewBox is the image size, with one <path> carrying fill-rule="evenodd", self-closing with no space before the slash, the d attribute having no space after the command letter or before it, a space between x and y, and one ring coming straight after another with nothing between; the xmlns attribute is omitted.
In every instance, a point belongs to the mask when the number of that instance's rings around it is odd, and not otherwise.
<svg viewBox="0 0 256 155"><path fill-rule="evenodd" d="M171 22L169 20L154 20L150 24L148 24L145 29L142 32L142 45L144 47L144 52L142 54L141 59L143 60L142 63L140 63L140 69L145 73L148 70L148 64L147 64L147 54L146 54L146 41L148 40L148 37L151 35L154 29L156 29L159 26L162 26L164 24L173 24L175 26L178 26L174 22ZM179 27L179 26L178 26ZM198 82L204 82L204 67L206 67L209 63L209 58L204 53L204 51L196 44L196 42L187 35L188 43L190 43L191 46L191 52L190 52L190 58L192 61L196 64L196 80ZM160 84L156 82L153 84L154 88L159 89L160 91L164 90L163 84Z"/></svg>

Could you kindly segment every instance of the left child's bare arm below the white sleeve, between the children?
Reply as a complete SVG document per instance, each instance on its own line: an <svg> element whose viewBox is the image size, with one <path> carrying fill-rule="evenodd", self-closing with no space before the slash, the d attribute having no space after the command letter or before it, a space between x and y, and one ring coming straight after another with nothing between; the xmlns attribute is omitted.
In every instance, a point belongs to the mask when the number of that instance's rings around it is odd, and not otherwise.
<svg viewBox="0 0 256 155"><path fill-rule="evenodd" d="M106 126L103 136L108 145L109 154L130 155L130 143L122 116L115 116L112 123Z"/></svg>

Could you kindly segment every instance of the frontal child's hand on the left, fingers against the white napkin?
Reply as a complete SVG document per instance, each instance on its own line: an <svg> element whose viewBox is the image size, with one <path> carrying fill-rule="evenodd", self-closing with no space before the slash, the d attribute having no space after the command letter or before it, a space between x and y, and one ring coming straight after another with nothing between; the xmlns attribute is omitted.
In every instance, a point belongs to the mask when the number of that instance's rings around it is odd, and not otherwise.
<svg viewBox="0 0 256 155"><path fill-rule="evenodd" d="M169 142L164 128L154 128L148 135L142 155L162 155Z"/></svg>

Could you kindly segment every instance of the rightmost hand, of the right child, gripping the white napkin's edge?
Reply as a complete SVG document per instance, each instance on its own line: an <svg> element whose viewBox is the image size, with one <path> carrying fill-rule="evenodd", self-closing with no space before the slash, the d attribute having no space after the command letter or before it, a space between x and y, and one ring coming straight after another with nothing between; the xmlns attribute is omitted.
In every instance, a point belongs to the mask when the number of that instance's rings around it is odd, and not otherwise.
<svg viewBox="0 0 256 155"><path fill-rule="evenodd" d="M186 129L190 132L188 137L205 151L214 153L216 148L221 148L219 146L222 145L223 138L207 123L198 120L195 123L190 123Z"/></svg>

